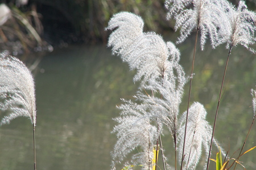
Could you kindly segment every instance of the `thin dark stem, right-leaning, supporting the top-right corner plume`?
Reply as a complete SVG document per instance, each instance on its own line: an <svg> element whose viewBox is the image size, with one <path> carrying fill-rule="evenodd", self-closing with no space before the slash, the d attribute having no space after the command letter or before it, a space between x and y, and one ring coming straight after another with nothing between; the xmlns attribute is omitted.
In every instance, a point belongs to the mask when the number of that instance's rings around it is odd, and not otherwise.
<svg viewBox="0 0 256 170"><path fill-rule="evenodd" d="M218 104L217 104L215 119L214 119L214 123L213 123L213 130L212 130L212 139L210 140L210 149L209 149L209 155L208 155L208 160L207 160L207 170L208 170L208 168L209 168L210 151L212 150L212 142L213 142L214 130L215 130L216 120L217 120L217 115L218 115L218 108L219 108L219 106L220 106L221 92L222 92L222 88L223 88L224 81L225 81L226 69L227 69L227 67L228 67L229 56L230 56L232 47L233 47L233 46L230 46L230 48L229 48L229 54L228 54L228 58L226 59L225 71L224 71L224 74L223 74L223 77L222 77L222 82L221 82L220 94L219 94L219 96L218 96Z"/></svg>

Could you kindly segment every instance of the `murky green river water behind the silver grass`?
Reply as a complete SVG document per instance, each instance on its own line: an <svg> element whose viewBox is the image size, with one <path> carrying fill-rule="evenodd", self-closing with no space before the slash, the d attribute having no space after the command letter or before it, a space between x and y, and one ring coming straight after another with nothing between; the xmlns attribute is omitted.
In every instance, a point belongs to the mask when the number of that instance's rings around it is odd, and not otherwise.
<svg viewBox="0 0 256 170"><path fill-rule="evenodd" d="M193 39L177 45L181 65L191 69ZM213 125L217 98L228 50L218 47L197 49L191 101L203 103ZM137 91L133 71L111 54L105 45L76 45L55 49L43 56L33 71L36 84L37 169L110 169L110 152L116 142L111 131L118 116L120 98L132 99ZM232 51L224 95L221 99L215 136L230 156L241 148L251 125L253 109L250 89L256 85L255 55L245 48ZM186 110L188 85L180 112ZM256 146L255 125L245 150ZM164 136L166 156L172 148L171 136ZM32 125L16 118L0 128L0 169L33 169ZM256 151L242 157L247 169L255 169ZM213 156L216 152L213 151ZM213 167L211 163L211 168ZM239 166L238 166L239 167ZM121 165L120 167L121 168ZM238 169L241 169L239 167Z"/></svg>

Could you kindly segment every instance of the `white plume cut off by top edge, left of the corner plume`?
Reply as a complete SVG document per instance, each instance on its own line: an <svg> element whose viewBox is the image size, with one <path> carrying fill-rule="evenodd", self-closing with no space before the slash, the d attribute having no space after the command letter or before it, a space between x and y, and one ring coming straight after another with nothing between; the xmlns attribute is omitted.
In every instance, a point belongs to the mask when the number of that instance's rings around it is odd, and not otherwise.
<svg viewBox="0 0 256 170"><path fill-rule="evenodd" d="M212 47L225 42L228 28L224 8L228 6L225 0L167 0L167 19L174 17L175 30L180 28L177 43L182 43L194 29L201 32L201 49L209 36Z"/></svg>

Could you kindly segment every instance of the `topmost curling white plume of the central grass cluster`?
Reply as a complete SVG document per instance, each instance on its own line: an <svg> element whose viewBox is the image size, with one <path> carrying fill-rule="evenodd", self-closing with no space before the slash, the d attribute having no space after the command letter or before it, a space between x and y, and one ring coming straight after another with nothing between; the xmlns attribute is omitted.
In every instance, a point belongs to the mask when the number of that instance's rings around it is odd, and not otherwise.
<svg viewBox="0 0 256 170"><path fill-rule="evenodd" d="M166 44L161 36L143 32L143 25L141 17L121 12L110 19L106 28L114 30L109 36L108 46L129 64L130 69L137 69L134 81L142 80L142 84L150 78L169 76L172 67L168 63L170 51L173 55L179 54L179 50Z"/></svg>

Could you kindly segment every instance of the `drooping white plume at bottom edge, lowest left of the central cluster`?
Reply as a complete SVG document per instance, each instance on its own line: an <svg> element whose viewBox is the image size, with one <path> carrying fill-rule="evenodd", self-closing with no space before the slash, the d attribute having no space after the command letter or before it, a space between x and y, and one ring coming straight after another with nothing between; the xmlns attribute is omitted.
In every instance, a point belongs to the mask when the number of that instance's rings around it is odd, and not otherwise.
<svg viewBox="0 0 256 170"><path fill-rule="evenodd" d="M125 104L118 107L121 116L115 118L119 124L114 127L117 133L117 143L112 152L114 169L115 164L120 163L130 152L138 148L139 153L133 155L132 164L143 164L143 169L151 168L152 153L158 130L151 125L150 117L147 115L147 105L137 104L123 99Z"/></svg>

